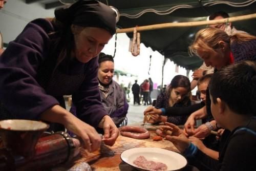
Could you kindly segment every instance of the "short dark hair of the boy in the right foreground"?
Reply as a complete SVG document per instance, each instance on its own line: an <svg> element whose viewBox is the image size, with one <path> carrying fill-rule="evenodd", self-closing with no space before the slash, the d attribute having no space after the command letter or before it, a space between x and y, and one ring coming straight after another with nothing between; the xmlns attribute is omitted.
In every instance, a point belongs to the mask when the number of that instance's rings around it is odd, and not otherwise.
<svg viewBox="0 0 256 171"><path fill-rule="evenodd" d="M241 115L256 114L256 63L242 61L215 73L209 83L212 102L224 101L230 110Z"/></svg>

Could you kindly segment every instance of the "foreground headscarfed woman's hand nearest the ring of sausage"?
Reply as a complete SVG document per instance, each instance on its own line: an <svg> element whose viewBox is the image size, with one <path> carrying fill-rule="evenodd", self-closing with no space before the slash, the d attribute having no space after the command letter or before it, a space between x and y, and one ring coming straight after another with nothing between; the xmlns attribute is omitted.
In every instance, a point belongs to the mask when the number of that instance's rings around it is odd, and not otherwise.
<svg viewBox="0 0 256 171"><path fill-rule="evenodd" d="M114 145L117 137L119 136L119 130L116 127L113 120L111 119L111 117L108 115L105 115L101 119L98 126L102 127L104 130L104 136L102 141L104 141L106 145L110 145L110 146Z"/></svg>

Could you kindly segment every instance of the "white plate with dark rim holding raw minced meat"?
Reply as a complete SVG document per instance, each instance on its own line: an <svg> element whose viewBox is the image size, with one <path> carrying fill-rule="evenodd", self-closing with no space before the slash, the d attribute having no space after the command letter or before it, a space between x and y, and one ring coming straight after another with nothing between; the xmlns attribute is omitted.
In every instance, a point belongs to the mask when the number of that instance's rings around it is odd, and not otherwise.
<svg viewBox="0 0 256 171"><path fill-rule="evenodd" d="M138 167L133 163L133 161L139 156L144 156L147 160L166 164L168 171L181 169L187 164L185 157L179 153L168 151L167 149L153 147L138 147L127 149L126 151L122 152L121 159L131 166L142 170L148 170Z"/></svg>

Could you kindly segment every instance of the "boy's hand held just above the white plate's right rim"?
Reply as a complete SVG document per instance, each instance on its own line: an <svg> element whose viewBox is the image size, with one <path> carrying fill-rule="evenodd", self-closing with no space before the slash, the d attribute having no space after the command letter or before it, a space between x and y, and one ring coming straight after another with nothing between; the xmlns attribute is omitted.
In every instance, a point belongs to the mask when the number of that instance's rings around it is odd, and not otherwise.
<svg viewBox="0 0 256 171"><path fill-rule="evenodd" d="M188 138L186 137L185 134L181 134L178 137L177 136L169 136L169 135L167 135L165 137L165 139L173 142L175 147L181 153L183 153L185 151L185 149L188 148L188 146L189 146L189 140L188 140Z"/></svg>

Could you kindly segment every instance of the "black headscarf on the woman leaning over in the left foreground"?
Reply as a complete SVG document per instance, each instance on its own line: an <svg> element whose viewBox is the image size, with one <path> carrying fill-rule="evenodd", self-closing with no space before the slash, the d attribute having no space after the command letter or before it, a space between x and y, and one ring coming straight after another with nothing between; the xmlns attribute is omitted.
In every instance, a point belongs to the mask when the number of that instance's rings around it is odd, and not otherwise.
<svg viewBox="0 0 256 171"><path fill-rule="evenodd" d="M58 8L56 19L66 25L99 27L116 33L116 13L109 6L94 0L79 0L69 8Z"/></svg>

